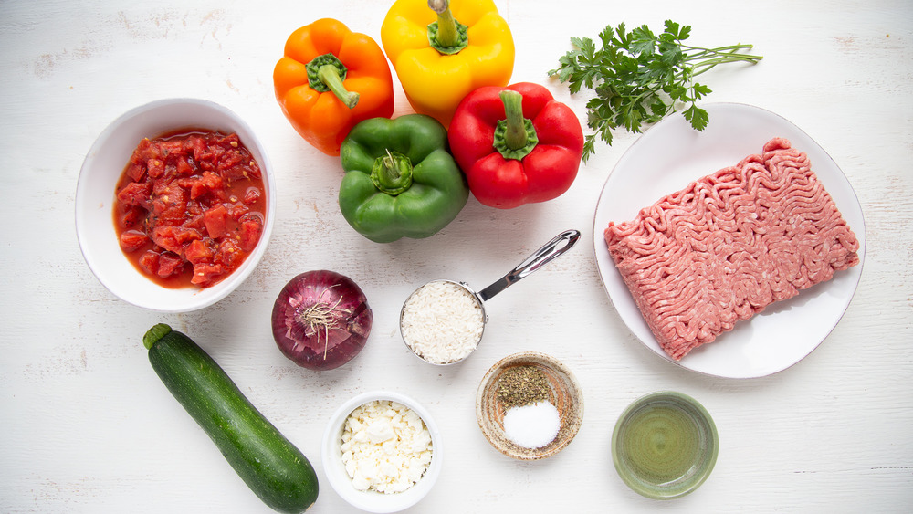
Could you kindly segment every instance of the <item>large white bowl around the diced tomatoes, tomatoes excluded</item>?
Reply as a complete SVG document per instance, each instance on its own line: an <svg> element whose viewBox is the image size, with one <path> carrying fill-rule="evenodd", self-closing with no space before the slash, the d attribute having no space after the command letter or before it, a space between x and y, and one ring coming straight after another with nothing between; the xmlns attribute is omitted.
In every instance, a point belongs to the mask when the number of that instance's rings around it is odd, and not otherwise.
<svg viewBox="0 0 913 514"><path fill-rule="evenodd" d="M124 256L114 228L114 189L133 150L142 138L186 128L236 132L257 160L266 190L267 219L257 247L234 273L209 288L163 288L143 276ZM89 150L76 188L79 247L101 284L120 299L162 312L203 309L235 290L263 257L275 223L275 187L267 152L234 112L207 100L153 101L111 122Z"/></svg>

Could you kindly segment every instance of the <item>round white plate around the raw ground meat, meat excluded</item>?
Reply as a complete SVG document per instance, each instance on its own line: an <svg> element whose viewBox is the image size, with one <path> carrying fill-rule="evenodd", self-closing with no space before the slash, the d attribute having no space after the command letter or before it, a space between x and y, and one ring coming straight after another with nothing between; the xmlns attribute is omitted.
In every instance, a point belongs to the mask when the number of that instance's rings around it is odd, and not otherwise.
<svg viewBox="0 0 913 514"><path fill-rule="evenodd" d="M675 361L660 348L609 257L603 238L609 221L634 219L641 208L664 195L737 164L747 155L760 153L765 142L782 137L808 154L812 170L859 239L860 261L866 253L865 222L855 192L834 160L808 134L758 107L737 103L702 107L710 117L704 131L692 129L680 114L645 131L605 181L593 219L596 265L609 299L637 339L669 362ZM728 378L760 377L792 366L834 329L853 298L862 267L860 262L792 299L771 305L675 363L695 372Z"/></svg>

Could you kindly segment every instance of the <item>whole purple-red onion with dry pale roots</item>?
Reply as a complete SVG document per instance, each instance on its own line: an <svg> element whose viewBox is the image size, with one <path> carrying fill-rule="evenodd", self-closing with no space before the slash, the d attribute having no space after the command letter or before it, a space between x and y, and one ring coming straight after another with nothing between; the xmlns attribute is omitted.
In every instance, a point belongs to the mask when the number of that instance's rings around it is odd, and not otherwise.
<svg viewBox="0 0 913 514"><path fill-rule="evenodd" d="M273 304L273 339L299 366L331 370L364 348L372 313L362 289L333 271L292 278Z"/></svg>

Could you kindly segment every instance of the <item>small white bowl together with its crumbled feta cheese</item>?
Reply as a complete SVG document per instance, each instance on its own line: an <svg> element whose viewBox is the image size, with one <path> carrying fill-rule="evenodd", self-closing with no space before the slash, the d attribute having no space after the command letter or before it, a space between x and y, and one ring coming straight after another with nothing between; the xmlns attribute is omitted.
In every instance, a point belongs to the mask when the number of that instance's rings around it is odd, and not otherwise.
<svg viewBox="0 0 913 514"><path fill-rule="evenodd" d="M323 470L349 504L367 512L412 507L434 487L444 448L431 414L391 391L342 404L323 434Z"/></svg>

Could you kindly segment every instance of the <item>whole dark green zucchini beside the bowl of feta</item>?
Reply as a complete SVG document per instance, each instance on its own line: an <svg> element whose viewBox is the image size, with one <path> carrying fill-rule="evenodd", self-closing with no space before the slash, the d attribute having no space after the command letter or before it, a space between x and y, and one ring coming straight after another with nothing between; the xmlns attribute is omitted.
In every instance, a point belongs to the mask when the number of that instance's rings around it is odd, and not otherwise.
<svg viewBox="0 0 913 514"><path fill-rule="evenodd" d="M307 457L257 411L193 340L159 323L142 338L152 369L270 508L299 513L317 500Z"/></svg>

